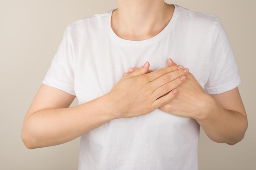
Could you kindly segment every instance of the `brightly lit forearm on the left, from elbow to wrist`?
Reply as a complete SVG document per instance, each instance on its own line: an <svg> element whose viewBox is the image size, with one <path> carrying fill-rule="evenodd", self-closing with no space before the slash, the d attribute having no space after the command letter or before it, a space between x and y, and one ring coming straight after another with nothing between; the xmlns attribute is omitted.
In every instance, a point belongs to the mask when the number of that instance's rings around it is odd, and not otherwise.
<svg viewBox="0 0 256 170"><path fill-rule="evenodd" d="M28 148L71 141L113 119L108 103L102 96L76 107L37 111L25 118L22 139Z"/></svg>

